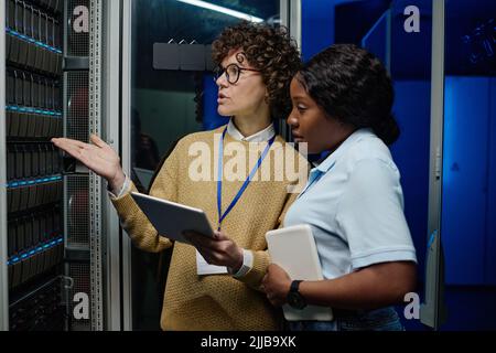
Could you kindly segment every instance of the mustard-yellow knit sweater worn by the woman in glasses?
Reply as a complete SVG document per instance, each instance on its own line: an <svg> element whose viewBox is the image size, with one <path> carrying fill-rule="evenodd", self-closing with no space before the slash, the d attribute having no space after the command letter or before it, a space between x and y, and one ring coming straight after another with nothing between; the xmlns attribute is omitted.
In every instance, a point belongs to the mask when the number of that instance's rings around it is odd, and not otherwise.
<svg viewBox="0 0 496 353"><path fill-rule="evenodd" d="M214 133L222 133L224 127L214 131L196 132L186 136L159 171L150 194L157 197L186 204L205 211L212 227L217 227L217 183L216 181L193 181L188 171L197 156L190 156L194 142L206 143L211 148L211 171L217 165L214 157ZM218 138L217 140L218 141ZM235 141L226 133L224 151ZM249 142L236 141L248 150ZM196 143L197 146L197 143ZM204 145L203 145L204 146ZM270 163L270 181L252 181L236 206L223 221L223 231L238 246L251 250L254 267L244 277L235 279L229 275L198 276L196 274L195 248L181 243L171 243L160 236L147 216L130 196L130 190L112 203L119 214L123 228L133 244L147 252L161 252L174 246L165 286L161 315L163 330L277 330L280 328L280 311L274 310L265 295L259 291L260 281L270 263L265 234L278 228L285 211L296 194L288 193L287 186L295 184L287 178L274 181L274 168L281 169L281 160L274 161L276 151L284 147L295 164L305 163L294 149L288 148L278 136L260 169ZM216 150L215 150L216 151ZM248 153L247 153L248 154ZM234 157L224 156L224 165ZM288 156L285 157L288 158ZM246 157L246 175L249 173L249 158ZM251 164L252 165L252 164ZM276 167L277 165L277 167ZM227 168L227 167L226 167ZM306 176L306 175L305 175ZM280 179L279 179L280 180ZM223 212L231 202L244 181L223 180ZM304 184L304 182L303 182ZM173 220L171 220L173 222Z"/></svg>

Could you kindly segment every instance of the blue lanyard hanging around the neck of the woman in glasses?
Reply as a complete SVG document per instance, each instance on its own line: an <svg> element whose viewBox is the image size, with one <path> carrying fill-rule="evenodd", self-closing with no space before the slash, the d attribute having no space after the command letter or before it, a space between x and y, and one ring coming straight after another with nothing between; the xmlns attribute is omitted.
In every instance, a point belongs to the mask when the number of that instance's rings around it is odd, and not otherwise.
<svg viewBox="0 0 496 353"><path fill-rule="evenodd" d="M241 189L239 189L236 196L230 202L227 210L223 213L223 157L224 157L224 138L226 136L227 128L223 132L223 138L220 139L218 143L218 164L217 164L217 171L218 171L218 181L217 181L217 211L218 211L218 231L220 231L220 224L223 223L224 218L229 214L229 212L233 210L233 207L236 205L236 203L241 197L242 193L245 192L246 188L248 188L248 184L250 183L251 179L255 176L255 173L260 168L263 159L266 158L267 153L270 150L270 147L272 146L273 141L276 140L276 135L269 140L269 143L267 145L266 149L263 150L262 154L257 161L257 165L254 167L250 174L248 175L248 179L245 180L242 183Z"/></svg>

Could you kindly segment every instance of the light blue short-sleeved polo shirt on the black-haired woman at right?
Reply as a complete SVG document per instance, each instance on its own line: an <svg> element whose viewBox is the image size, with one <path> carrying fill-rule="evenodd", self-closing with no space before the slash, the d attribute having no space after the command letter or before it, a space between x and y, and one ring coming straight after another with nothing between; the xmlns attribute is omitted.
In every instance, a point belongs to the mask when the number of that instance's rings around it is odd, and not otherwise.
<svg viewBox="0 0 496 353"><path fill-rule="evenodd" d="M284 226L296 224L312 227L326 279L378 263L417 263L400 173L371 129L355 131L311 170L284 218Z"/></svg>

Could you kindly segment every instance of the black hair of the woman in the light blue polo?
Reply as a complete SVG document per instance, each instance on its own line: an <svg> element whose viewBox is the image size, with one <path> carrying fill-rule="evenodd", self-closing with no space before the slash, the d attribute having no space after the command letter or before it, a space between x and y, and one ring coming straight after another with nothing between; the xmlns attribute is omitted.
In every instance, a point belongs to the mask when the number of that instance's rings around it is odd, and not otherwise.
<svg viewBox="0 0 496 353"><path fill-rule="evenodd" d="M330 117L356 128L371 128L386 145L398 139L391 79L381 62L366 50L334 44L304 64L296 77Z"/></svg>

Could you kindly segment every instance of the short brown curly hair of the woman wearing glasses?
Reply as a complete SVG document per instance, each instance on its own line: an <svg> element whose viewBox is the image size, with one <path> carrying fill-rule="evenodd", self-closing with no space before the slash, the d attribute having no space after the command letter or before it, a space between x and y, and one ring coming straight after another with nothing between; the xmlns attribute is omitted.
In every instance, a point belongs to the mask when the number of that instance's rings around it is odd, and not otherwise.
<svg viewBox="0 0 496 353"><path fill-rule="evenodd" d="M295 42L284 26L273 28L242 21L226 28L212 44L212 58L219 65L231 50L241 49L248 62L261 71L272 118L291 111L289 85L301 67Z"/></svg>

